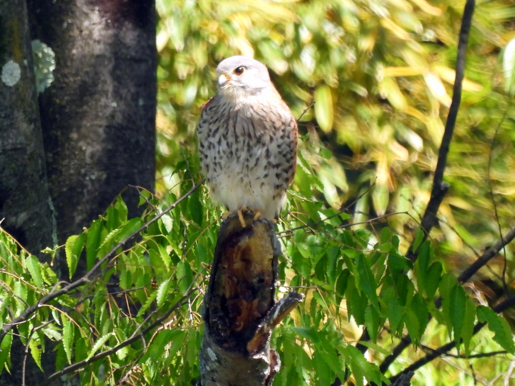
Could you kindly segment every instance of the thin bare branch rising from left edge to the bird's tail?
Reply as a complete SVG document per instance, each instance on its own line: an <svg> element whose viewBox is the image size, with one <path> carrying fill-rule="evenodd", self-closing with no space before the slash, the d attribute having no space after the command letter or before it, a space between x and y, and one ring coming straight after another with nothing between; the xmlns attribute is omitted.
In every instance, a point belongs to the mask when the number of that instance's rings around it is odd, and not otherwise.
<svg viewBox="0 0 515 386"><path fill-rule="evenodd" d="M193 186L181 198L179 198L176 202L174 202L168 208L166 208L161 214L159 214L158 216L152 218L146 224L142 225L140 227L140 229L138 229L137 231L134 231L131 235L127 236L125 239L123 239L118 244L116 244L115 247L113 247L111 249L111 251L109 251L104 257L102 257L93 266L93 268L91 268L84 276L82 276L81 278L75 280L75 282L73 282L71 284L68 284L67 286L65 286L65 287L63 287L63 288L61 288L59 290L53 290L53 291L49 292L47 295L43 296L38 303L36 303L33 306L27 307L20 314L19 317L14 318L11 321L11 323L9 323L9 324L5 325L4 327L2 327L2 329L0 330L0 342L4 339L5 335L13 328L14 325L20 324L20 323L26 321L27 318L32 313L36 312L42 305L45 305L48 302L56 299L56 297L59 297L59 296L61 296L63 294L66 294L66 293L70 292L71 290L73 290L73 289L75 289L75 288L77 288L77 287L79 287L79 286L81 286L83 284L86 284L86 283L90 282L95 277L96 271L101 267L101 265L104 264L104 262L108 261L109 259L111 259L113 256L116 255L116 251L118 250L118 248L124 247L125 244L127 244L129 241L131 241L135 236L139 235L140 232L144 231L152 223L156 222L161 217L163 217L166 213L170 212L170 210L175 208L181 201L183 201L186 197L190 196L196 189L198 189L198 187L203 184L204 180L200 181L195 186Z"/></svg>

